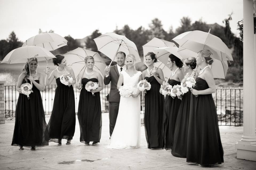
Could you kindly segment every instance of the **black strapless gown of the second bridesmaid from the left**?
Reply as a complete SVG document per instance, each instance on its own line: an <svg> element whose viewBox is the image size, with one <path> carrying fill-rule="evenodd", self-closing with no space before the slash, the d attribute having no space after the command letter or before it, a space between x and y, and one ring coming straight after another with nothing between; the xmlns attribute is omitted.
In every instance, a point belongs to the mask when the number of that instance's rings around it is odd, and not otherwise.
<svg viewBox="0 0 256 170"><path fill-rule="evenodd" d="M75 133L75 95L71 85L66 86L56 79L57 87L53 111L47 125L49 142L59 143L61 139L73 139Z"/></svg>

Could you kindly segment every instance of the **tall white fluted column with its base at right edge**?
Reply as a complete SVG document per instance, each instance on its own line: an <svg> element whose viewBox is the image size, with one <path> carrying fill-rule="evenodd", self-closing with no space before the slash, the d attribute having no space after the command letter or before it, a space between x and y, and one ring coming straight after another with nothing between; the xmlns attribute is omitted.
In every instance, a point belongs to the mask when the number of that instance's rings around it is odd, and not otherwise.
<svg viewBox="0 0 256 170"><path fill-rule="evenodd" d="M253 0L243 0L243 135L235 144L237 158L256 161L256 84Z"/></svg>

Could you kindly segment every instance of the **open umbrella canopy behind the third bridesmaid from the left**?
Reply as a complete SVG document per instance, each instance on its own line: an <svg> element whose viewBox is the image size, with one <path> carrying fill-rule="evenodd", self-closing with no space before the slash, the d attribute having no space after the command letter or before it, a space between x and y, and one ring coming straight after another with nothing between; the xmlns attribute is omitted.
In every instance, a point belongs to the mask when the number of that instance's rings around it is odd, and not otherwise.
<svg viewBox="0 0 256 170"><path fill-rule="evenodd" d="M78 76L78 74L85 69L85 57L87 56L92 56L94 58L93 69L97 70L102 75L102 77L105 75L106 64L97 52L78 47L67 52L64 54L64 56L69 66L73 68L74 74L76 76Z"/></svg>

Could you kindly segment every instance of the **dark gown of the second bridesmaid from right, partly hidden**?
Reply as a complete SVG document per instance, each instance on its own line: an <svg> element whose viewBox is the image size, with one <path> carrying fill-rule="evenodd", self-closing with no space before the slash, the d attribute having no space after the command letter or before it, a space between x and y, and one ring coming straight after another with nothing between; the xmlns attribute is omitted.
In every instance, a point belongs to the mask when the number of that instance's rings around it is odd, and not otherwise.
<svg viewBox="0 0 256 170"><path fill-rule="evenodd" d="M183 95L175 124L174 143L171 154L180 158L186 158L187 156L187 128L189 124L191 95L193 94L191 94L190 90Z"/></svg>

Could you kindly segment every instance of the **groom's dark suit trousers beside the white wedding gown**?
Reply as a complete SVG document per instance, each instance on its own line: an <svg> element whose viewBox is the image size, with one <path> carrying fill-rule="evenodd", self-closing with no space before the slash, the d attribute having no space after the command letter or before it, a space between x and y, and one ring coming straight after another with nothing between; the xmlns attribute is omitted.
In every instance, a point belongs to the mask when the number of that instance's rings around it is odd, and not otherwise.
<svg viewBox="0 0 256 170"><path fill-rule="evenodd" d="M109 134L113 133L115 122L117 121L117 114L119 109L119 102L109 102Z"/></svg>

